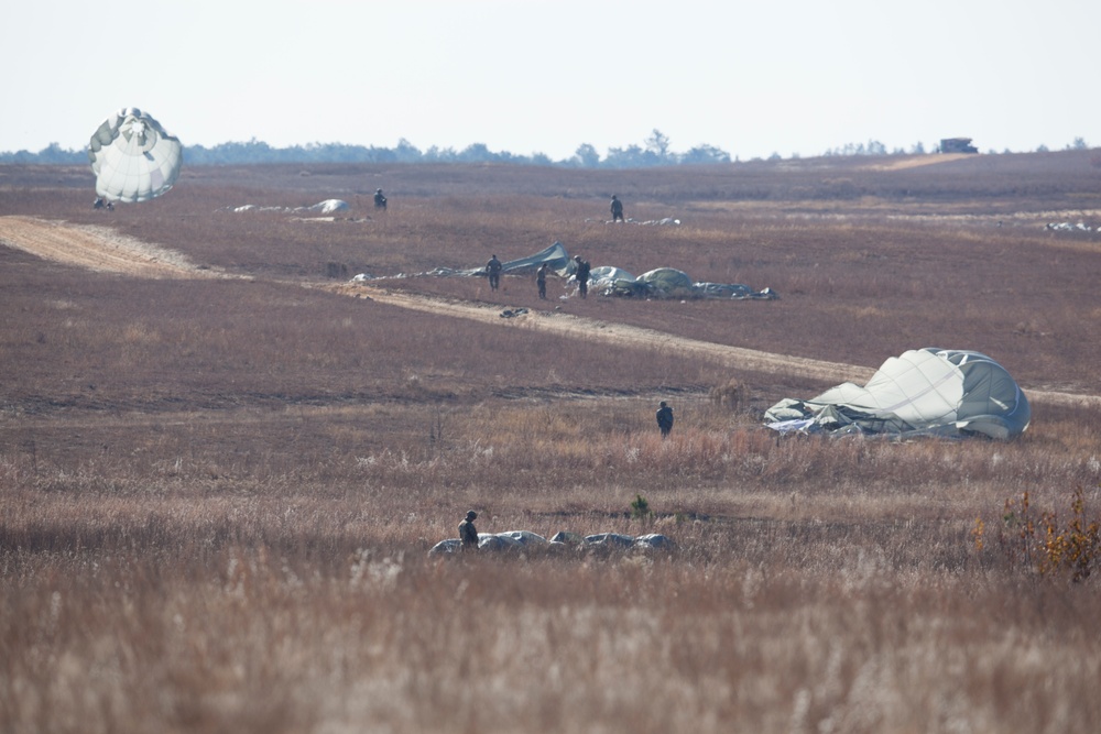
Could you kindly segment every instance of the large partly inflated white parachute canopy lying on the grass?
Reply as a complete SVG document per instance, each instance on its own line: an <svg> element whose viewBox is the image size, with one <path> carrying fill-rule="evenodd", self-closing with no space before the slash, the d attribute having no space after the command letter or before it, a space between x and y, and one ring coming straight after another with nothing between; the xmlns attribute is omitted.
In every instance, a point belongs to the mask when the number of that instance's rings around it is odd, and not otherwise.
<svg viewBox="0 0 1101 734"><path fill-rule="evenodd" d="M998 439L1024 432L1029 419L1027 398L1002 365L979 352L935 348L892 357L863 387L847 382L765 413L768 427L781 432Z"/></svg>

